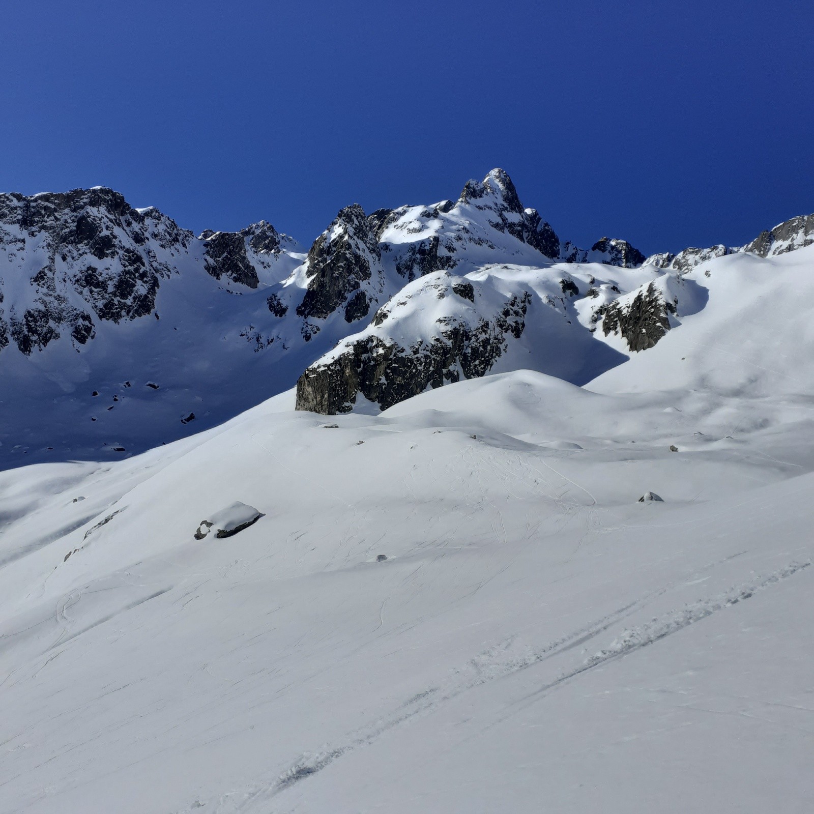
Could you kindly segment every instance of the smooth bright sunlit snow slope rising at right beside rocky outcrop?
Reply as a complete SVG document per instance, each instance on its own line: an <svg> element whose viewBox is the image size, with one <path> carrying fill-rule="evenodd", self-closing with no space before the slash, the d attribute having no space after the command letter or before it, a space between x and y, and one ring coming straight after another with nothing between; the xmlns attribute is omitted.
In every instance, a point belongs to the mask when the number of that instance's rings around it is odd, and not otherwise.
<svg viewBox="0 0 814 814"><path fill-rule="evenodd" d="M762 258L721 256L683 276L703 290L646 353L589 384L600 392L715 391L721 396L814 396L814 246Z"/></svg>

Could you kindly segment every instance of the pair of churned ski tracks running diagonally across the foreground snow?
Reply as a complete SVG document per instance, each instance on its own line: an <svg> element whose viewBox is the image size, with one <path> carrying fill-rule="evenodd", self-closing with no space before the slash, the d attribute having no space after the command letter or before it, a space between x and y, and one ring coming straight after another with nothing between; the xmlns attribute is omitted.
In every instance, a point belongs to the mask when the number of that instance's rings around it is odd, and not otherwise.
<svg viewBox="0 0 814 814"><path fill-rule="evenodd" d="M711 563L709 567L714 567L719 564L720 562ZM618 637L611 641L608 646L602 648L602 650L598 650L596 654L593 654L589 659L585 659L583 663L577 664L562 672L562 675L558 676L556 680L550 681L539 689L536 689L534 693L519 699L518 702L514 702L514 706L522 709L536 702L540 697L545 696L550 690L557 688L567 681L571 681L585 672L593 670L594 667L599 667L613 659L619 659L624 655L631 654L636 650L652 645L672 635L672 633L681 631L690 624L706 619L708 616L725 608L737 605L739 602L744 602L746 599L753 597L755 593L768 589L772 585L779 584L783 580L787 580L790 576L793 576L799 571L803 571L803 569L810 565L810 561L791 562L788 566L778 571L734 586L716 597L699 600L682 608L670 610L652 619L650 622L635 628L626 628ZM698 572L696 571L695 573ZM282 794L291 789L291 787L297 783L307 780L342 756L348 755L348 753L356 751L363 746L370 746L384 733L395 729L400 726L400 724L405 724L416 716L429 715L444 703L453 700L453 698L457 698L457 696L466 693L470 689L475 689L489 681L495 681L496 679L514 675L548 659L566 654L577 647L583 646L589 641L593 641L593 639L600 636L603 632L606 632L612 625L618 623L621 619L627 618L637 610L641 610L642 607L646 606L654 598L667 593L669 590L675 588L677 584L681 584L681 580L668 584L663 589L650 593L636 602L631 602L626 606L620 607L614 613L606 615L593 624L580 628L557 641L551 642L539 650L527 648L525 653L513 655L511 654L511 650L517 641L517 637L509 637L504 641L498 642L491 648L481 651L473 659L470 659L469 663L459 668L456 671L457 681L453 679L449 681L449 685L430 687L414 694L414 696L403 702L400 707L397 707L391 716L380 719L373 727L357 734L356 737L352 737L347 743L339 746L329 746L326 744L317 751L301 755L300 759L296 760L286 772L278 775L274 781L257 786L252 790L232 791L225 794L216 803L216 807L213 810L219 812L219 814L256 810L260 805L274 799L278 794ZM514 714L516 714L516 710L510 713L510 715ZM500 720L505 720L505 717ZM490 726L492 725L494 724L490 724ZM200 801L197 800L193 803L191 808L182 809L182 812L190 812L194 810L195 807L201 807L204 804L205 803L200 803ZM259 811L260 809L257 808L257 810ZM268 809L264 808L263 810L266 811ZM177 812L177 814L182 814L182 812Z"/></svg>

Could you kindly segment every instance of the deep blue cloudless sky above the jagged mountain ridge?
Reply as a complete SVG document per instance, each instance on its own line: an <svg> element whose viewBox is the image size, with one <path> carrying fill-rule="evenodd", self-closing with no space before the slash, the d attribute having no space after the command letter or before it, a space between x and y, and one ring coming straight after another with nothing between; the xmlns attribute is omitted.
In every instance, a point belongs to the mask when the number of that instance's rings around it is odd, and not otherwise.
<svg viewBox="0 0 814 814"><path fill-rule="evenodd" d="M304 243L495 166L565 239L814 212L814 3L0 0L0 190Z"/></svg>

